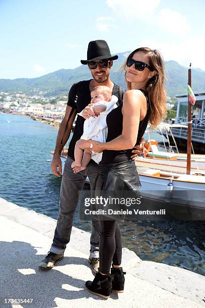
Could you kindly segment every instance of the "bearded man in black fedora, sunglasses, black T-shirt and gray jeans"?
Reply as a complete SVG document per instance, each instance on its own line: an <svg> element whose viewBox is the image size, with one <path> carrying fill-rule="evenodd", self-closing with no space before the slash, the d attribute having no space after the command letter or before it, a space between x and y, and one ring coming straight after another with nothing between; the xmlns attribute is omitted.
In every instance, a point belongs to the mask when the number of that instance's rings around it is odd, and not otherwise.
<svg viewBox="0 0 205 308"><path fill-rule="evenodd" d="M113 60L116 60L117 58L117 55L111 55L106 41L96 40L89 43L87 60L81 60L81 63L88 65L93 79L78 82L70 89L65 116L59 127L55 151L51 163L51 168L54 175L58 177L61 176L61 150L70 137L73 121L77 113L80 113L90 103L90 93L92 89L99 85L107 86L112 90L112 94L118 97L119 102L122 100L124 90L112 83L110 80L110 68L113 65ZM98 169L97 163L91 160L87 166L87 169L77 174L74 174L71 168L71 164L74 161L75 144L83 134L84 121L85 120L81 116L77 117L76 126L69 145L64 172L62 175L59 213L53 243L47 256L41 261L39 265L40 269L51 269L55 265L56 261L63 258L66 244L70 242L73 219L79 199L79 192L83 189L87 176L90 180L91 190L93 190L94 187ZM134 152L137 153L139 151L134 150ZM94 273L96 273L99 267L99 222L97 216L92 217L92 234L90 244L91 249L89 262L92 264Z"/></svg>

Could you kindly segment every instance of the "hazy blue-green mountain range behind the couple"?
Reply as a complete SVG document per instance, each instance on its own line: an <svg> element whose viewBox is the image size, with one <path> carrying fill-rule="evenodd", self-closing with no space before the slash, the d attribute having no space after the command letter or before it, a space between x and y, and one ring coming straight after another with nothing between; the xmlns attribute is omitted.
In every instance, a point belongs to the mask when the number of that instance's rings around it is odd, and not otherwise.
<svg viewBox="0 0 205 308"><path fill-rule="evenodd" d="M119 53L119 58L113 61L111 69L111 80L119 86L126 88L124 82L124 72L121 73L120 67L125 61L129 51ZM187 88L187 67L176 61L165 62L167 73L167 92L169 96L175 96L186 92ZM59 69L38 78L18 78L14 80L0 79L0 91L5 92L25 92L43 90L49 91L48 95L67 94L71 86L81 80L92 78L87 65L81 65L74 69ZM192 89L194 92L205 91L205 71L192 69Z"/></svg>

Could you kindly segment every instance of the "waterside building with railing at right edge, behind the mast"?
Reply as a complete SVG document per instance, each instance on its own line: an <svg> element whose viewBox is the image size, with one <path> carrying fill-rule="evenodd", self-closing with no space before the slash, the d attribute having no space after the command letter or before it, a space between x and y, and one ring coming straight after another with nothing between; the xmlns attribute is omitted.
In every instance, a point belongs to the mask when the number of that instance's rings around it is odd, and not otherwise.
<svg viewBox="0 0 205 308"><path fill-rule="evenodd" d="M191 106L192 131L191 140L194 151L205 152L205 92L194 93L196 102ZM188 98L187 94L176 96L178 105L175 124L187 124ZM180 145L185 145L187 140L187 128L172 128L172 133Z"/></svg>

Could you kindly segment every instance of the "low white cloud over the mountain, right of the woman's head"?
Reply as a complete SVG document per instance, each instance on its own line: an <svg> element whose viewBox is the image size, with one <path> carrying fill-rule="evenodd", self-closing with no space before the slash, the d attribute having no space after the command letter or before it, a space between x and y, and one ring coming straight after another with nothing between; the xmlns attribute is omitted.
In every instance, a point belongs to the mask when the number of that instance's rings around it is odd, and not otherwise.
<svg viewBox="0 0 205 308"><path fill-rule="evenodd" d="M205 70L205 59L202 52L196 52L196 46L200 42L200 50L205 49L205 36L193 37L191 44L189 38L181 42L160 42L145 40L141 42L141 46L159 49L165 61L175 60L179 64L188 67L192 63L193 67L200 67Z"/></svg>

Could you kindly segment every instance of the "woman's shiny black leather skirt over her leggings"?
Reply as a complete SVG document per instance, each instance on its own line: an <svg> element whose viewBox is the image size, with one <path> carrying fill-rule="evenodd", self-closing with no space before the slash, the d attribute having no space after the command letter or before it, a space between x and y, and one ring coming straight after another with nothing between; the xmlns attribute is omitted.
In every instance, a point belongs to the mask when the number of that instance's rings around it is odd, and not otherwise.
<svg viewBox="0 0 205 308"><path fill-rule="evenodd" d="M99 165L95 185L96 209L99 219L124 220L131 198L138 198L140 178L134 161ZM100 199L101 198L101 199Z"/></svg>

